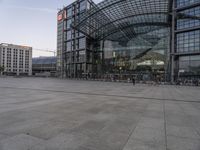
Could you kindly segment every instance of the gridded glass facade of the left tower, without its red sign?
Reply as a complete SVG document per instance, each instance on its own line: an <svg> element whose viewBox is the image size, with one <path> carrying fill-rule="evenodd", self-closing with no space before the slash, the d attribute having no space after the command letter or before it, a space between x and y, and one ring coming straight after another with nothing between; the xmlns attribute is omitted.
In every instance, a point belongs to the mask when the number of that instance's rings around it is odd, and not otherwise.
<svg viewBox="0 0 200 150"><path fill-rule="evenodd" d="M64 15L66 17L62 19L64 30L61 31L64 40L61 40L62 36L58 36L58 45L59 43L63 44L63 47L60 48L62 49L60 51L62 58L59 57L63 61L62 77L78 77L87 72L89 68L90 64L87 63L86 59L87 53L90 53L88 52L89 48L86 47L87 38L72 27L88 8L90 8L88 0L79 0L63 9L66 13Z"/></svg>

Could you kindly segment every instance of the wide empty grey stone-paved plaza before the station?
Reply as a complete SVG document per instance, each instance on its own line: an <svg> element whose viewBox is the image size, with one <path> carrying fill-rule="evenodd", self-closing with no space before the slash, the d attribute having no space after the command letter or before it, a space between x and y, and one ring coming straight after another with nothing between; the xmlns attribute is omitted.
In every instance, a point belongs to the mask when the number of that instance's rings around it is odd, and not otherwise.
<svg viewBox="0 0 200 150"><path fill-rule="evenodd" d="M200 88L0 78L0 150L200 150Z"/></svg>

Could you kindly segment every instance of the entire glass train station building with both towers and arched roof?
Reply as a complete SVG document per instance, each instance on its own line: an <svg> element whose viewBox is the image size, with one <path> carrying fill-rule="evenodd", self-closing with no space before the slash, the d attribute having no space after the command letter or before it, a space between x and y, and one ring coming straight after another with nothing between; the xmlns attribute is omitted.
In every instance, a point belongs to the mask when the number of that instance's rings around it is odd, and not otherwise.
<svg viewBox="0 0 200 150"><path fill-rule="evenodd" d="M200 78L199 0L77 0L57 22L60 77Z"/></svg>

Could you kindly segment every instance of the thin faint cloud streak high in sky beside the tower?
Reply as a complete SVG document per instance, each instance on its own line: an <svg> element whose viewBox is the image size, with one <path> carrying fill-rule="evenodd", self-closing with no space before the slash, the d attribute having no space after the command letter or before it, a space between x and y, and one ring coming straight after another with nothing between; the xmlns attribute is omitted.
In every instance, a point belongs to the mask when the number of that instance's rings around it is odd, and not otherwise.
<svg viewBox="0 0 200 150"><path fill-rule="evenodd" d="M0 0L0 2L3 0ZM14 8L14 9L23 9L23 10L29 10L29 11L40 11L45 13L56 13L57 10L55 9L49 9L49 8L35 8L35 7L21 7L21 6L5 6L7 8Z"/></svg>

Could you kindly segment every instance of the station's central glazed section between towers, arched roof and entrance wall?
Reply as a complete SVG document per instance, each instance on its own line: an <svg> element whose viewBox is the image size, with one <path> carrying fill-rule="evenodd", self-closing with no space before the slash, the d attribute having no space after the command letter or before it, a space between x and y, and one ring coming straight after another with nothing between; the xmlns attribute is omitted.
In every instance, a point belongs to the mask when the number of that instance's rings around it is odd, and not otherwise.
<svg viewBox="0 0 200 150"><path fill-rule="evenodd" d="M145 7L144 6L148 6ZM169 1L107 0L80 17L76 27L91 41L86 47L93 77L126 76L138 68L166 74L169 53ZM123 78L123 77L122 77ZM164 77L163 77L164 78Z"/></svg>

